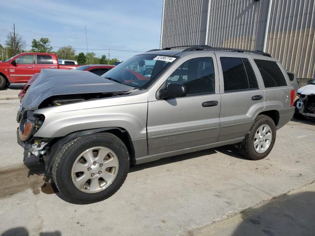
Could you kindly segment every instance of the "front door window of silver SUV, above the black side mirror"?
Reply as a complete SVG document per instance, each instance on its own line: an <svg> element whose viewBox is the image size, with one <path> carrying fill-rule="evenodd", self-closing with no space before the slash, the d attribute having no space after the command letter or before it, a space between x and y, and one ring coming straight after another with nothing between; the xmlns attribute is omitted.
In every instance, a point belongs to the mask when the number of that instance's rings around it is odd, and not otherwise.
<svg viewBox="0 0 315 236"><path fill-rule="evenodd" d="M215 92L215 72L212 58L194 58L180 65L170 77L167 85L182 84L187 88L187 95Z"/></svg>

